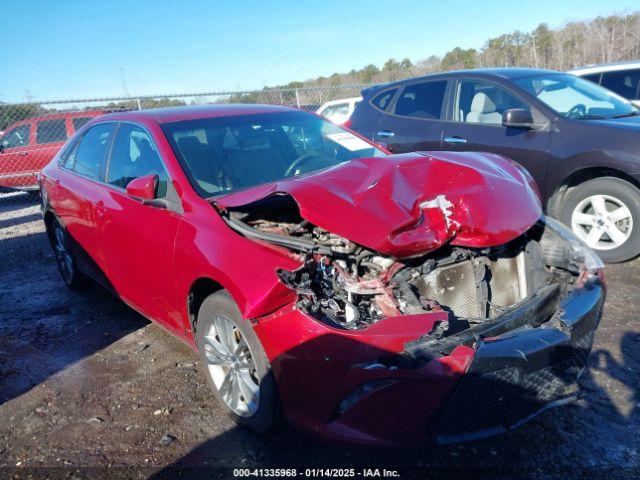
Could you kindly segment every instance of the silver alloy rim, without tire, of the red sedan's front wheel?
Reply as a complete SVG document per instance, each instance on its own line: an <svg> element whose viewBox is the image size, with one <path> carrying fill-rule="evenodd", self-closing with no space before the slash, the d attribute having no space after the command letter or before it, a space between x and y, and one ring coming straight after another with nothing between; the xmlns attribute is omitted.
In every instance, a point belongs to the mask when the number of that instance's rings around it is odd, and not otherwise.
<svg viewBox="0 0 640 480"><path fill-rule="evenodd" d="M229 318L216 315L204 341L207 367L220 396L237 415L250 417L258 409L260 380L246 339Z"/></svg>

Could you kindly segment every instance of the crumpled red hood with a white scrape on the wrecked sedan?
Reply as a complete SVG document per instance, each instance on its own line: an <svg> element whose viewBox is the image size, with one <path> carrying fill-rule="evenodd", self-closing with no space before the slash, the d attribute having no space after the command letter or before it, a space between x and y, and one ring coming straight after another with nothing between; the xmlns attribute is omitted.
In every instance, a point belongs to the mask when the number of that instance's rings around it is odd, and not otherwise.
<svg viewBox="0 0 640 480"><path fill-rule="evenodd" d="M542 215L533 180L490 153L421 152L361 158L315 175L225 195L223 208L291 195L309 222L382 254L403 258L447 242L503 244Z"/></svg>

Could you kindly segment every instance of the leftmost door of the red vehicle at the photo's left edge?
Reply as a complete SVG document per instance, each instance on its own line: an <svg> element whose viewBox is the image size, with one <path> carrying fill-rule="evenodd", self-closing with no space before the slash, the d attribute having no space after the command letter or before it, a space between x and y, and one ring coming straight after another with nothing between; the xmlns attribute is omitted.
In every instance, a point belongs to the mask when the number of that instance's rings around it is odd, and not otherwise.
<svg viewBox="0 0 640 480"><path fill-rule="evenodd" d="M9 128L0 138L0 187L20 188L34 185L29 168L31 122Z"/></svg>

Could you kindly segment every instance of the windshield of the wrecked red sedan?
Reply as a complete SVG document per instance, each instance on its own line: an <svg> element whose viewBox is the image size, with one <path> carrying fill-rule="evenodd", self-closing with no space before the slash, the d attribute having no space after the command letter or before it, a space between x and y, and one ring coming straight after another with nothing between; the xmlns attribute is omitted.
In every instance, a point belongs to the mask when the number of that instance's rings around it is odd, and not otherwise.
<svg viewBox="0 0 640 480"><path fill-rule="evenodd" d="M211 197L386 154L306 112L203 118L162 125L198 194Z"/></svg>

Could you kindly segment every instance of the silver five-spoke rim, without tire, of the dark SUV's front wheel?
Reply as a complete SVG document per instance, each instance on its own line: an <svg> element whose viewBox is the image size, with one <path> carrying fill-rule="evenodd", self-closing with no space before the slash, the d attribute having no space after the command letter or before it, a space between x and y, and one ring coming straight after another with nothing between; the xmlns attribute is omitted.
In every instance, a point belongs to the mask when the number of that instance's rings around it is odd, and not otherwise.
<svg viewBox="0 0 640 480"><path fill-rule="evenodd" d="M573 209L571 228L594 250L612 250L631 236L633 216L620 199L592 195Z"/></svg>

